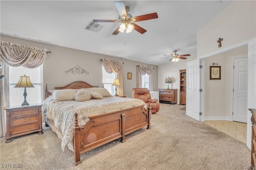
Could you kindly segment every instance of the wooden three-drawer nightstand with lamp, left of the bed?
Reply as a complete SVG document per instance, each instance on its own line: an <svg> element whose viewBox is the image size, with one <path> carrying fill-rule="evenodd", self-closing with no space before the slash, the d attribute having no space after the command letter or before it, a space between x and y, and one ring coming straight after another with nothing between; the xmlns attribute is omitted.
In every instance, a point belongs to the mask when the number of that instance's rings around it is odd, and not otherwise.
<svg viewBox="0 0 256 170"><path fill-rule="evenodd" d="M42 104L30 106L4 107L6 110L6 136L5 143L12 142L12 137L38 132L43 134L42 129Z"/></svg>

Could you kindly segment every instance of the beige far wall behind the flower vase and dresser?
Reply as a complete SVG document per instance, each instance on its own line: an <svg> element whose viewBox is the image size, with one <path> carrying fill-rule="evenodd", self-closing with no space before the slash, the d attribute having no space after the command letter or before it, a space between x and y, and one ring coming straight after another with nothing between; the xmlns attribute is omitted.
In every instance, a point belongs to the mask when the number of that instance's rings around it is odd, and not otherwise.
<svg viewBox="0 0 256 170"><path fill-rule="evenodd" d="M186 63L196 59L196 55L188 56L187 59L180 59L178 62L166 60L166 64L158 66L158 88L167 88L168 84L164 83L164 79L168 76L173 77L174 81L170 84L170 88L178 89L177 101L180 102L180 70L186 69Z"/></svg>

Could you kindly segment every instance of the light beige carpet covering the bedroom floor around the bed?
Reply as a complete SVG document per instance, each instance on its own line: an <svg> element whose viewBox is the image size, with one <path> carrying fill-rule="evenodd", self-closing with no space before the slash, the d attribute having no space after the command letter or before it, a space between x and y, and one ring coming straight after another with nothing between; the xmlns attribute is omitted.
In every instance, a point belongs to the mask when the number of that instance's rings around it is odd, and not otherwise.
<svg viewBox="0 0 256 170"><path fill-rule="evenodd" d="M250 150L246 144L186 116L184 106L160 104L146 127L81 155L61 149L61 141L49 127L44 134L0 140L0 169L24 170L246 170ZM5 168L20 163L22 168Z"/></svg>

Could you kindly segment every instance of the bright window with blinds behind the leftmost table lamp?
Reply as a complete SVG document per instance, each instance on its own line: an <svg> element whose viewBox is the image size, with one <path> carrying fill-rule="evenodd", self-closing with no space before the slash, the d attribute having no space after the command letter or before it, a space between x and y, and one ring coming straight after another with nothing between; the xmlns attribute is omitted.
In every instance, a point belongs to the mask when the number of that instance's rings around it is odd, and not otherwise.
<svg viewBox="0 0 256 170"><path fill-rule="evenodd" d="M24 88L14 88L20 76L29 76L34 88L26 88L26 100L29 104L42 103L43 97L43 81L42 81L42 65L37 68L9 67L9 83L10 83L10 106L21 105L24 101Z"/></svg>

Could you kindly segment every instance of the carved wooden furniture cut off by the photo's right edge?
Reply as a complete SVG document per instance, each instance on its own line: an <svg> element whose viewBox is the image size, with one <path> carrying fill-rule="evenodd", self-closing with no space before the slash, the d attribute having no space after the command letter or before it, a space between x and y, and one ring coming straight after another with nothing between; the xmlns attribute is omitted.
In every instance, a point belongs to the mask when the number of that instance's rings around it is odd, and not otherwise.
<svg viewBox="0 0 256 170"><path fill-rule="evenodd" d="M251 165L248 170L254 170L256 167L256 109L248 109L252 113L252 149L251 149Z"/></svg>

